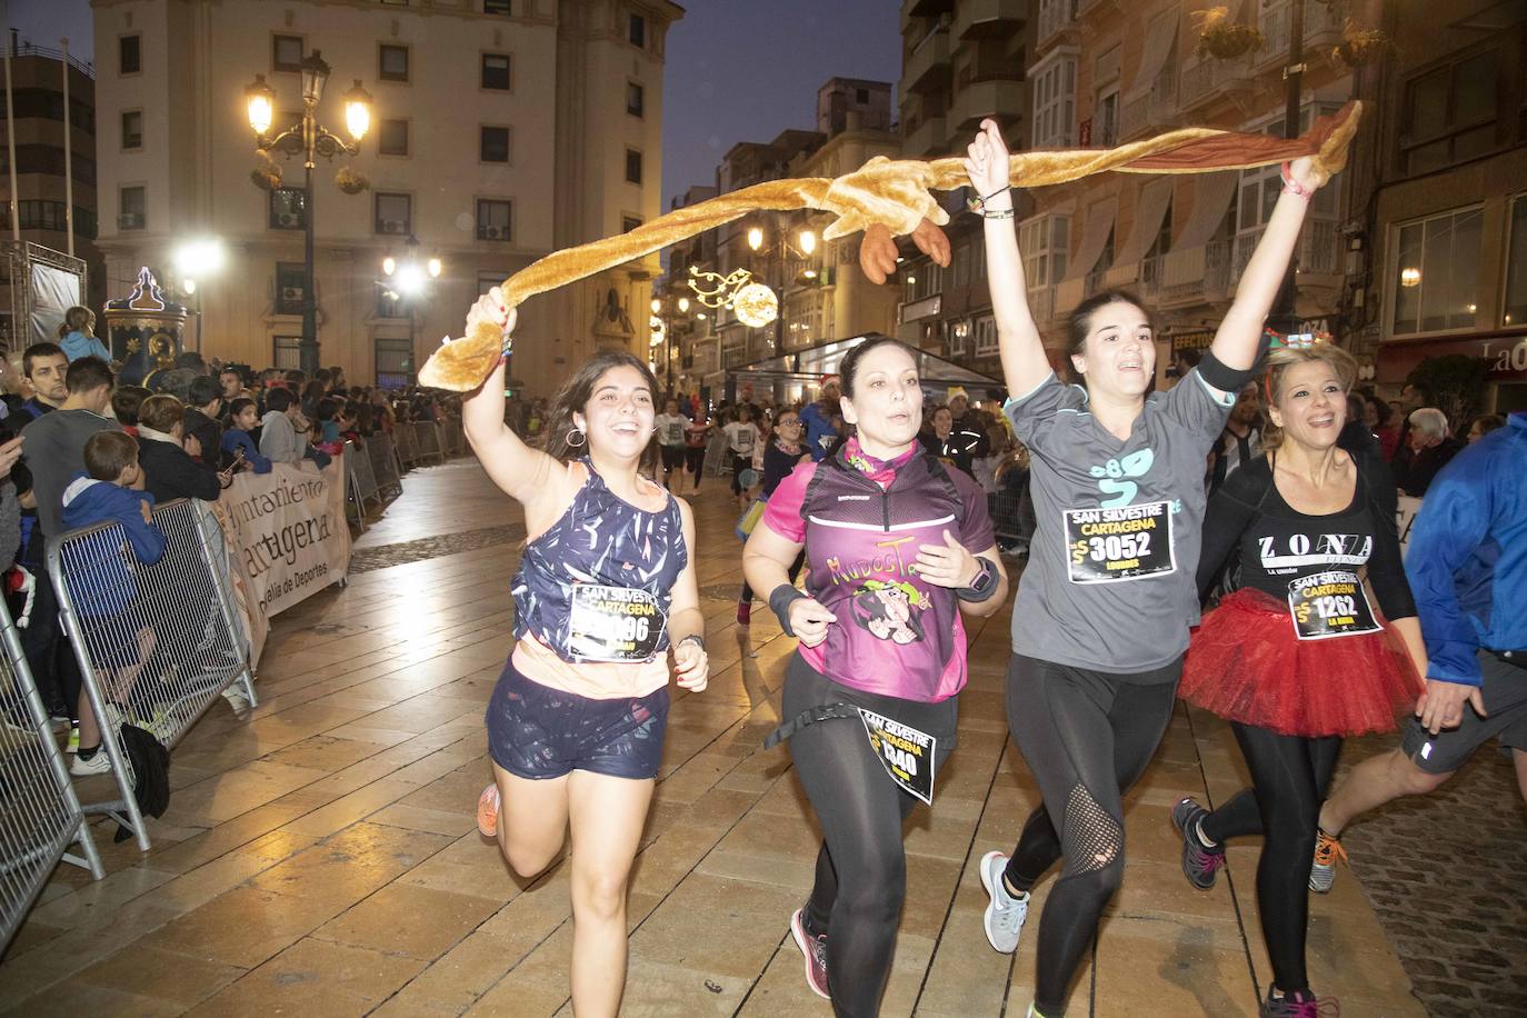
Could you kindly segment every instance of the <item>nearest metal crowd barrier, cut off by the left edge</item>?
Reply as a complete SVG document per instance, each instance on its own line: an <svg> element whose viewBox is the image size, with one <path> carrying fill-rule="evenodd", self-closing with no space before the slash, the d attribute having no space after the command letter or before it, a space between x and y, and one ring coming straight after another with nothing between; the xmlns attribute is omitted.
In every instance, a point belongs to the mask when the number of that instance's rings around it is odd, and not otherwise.
<svg viewBox="0 0 1527 1018"><path fill-rule="evenodd" d="M47 725L47 710L32 682L11 612L0 598L0 949L21 926L27 910L60 859L105 870L96 853L84 809L69 783L69 768ZM82 856L69 847L78 842Z"/></svg>

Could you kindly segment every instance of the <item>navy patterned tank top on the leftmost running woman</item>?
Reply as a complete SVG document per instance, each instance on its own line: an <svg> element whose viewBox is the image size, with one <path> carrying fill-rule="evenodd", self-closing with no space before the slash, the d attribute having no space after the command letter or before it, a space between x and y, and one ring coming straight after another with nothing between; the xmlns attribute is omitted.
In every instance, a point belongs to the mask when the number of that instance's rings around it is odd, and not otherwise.
<svg viewBox="0 0 1527 1018"><path fill-rule="evenodd" d="M562 517L525 546L515 575L515 638L568 662L651 661L667 650L673 585L689 563L678 501L651 513L588 481Z"/></svg>

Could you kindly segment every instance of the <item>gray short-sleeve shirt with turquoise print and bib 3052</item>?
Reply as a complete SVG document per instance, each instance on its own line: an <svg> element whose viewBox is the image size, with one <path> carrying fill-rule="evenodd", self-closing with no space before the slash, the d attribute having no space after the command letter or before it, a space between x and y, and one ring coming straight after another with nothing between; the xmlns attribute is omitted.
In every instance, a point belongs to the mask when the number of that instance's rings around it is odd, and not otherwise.
<svg viewBox="0 0 1527 1018"><path fill-rule="evenodd" d="M1078 668L1161 668L1199 621L1205 464L1235 397L1197 371L1145 397L1128 440L1054 374L1003 408L1029 447L1037 530L1012 649Z"/></svg>

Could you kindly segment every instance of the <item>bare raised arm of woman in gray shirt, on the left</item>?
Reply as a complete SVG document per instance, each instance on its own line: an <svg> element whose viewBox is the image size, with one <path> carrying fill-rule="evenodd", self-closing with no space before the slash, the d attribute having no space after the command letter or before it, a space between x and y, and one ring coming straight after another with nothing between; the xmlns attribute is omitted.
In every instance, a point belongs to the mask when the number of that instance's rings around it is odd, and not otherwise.
<svg viewBox="0 0 1527 1018"><path fill-rule="evenodd" d="M1051 374L1044 342L1029 311L1028 282L1019 256L1019 234L1012 221L1012 189L1008 185L1008 145L996 121L982 121L970 143L965 172L982 200L986 220L986 285L997 325L997 351L1009 395L1032 392Z"/></svg>

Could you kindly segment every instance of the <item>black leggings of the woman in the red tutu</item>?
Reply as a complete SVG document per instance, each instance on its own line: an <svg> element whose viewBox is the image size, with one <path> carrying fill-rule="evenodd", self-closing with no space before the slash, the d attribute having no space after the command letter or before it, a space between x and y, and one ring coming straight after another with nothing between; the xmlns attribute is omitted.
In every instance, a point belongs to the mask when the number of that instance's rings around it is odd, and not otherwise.
<svg viewBox="0 0 1527 1018"><path fill-rule="evenodd" d="M1209 813L1203 820L1203 836L1223 842L1266 835L1257 864L1257 911L1272 960L1272 984L1284 994L1307 991L1304 936L1310 922L1310 856L1341 739L1280 736L1238 722L1231 728L1251 768L1252 788Z"/></svg>

